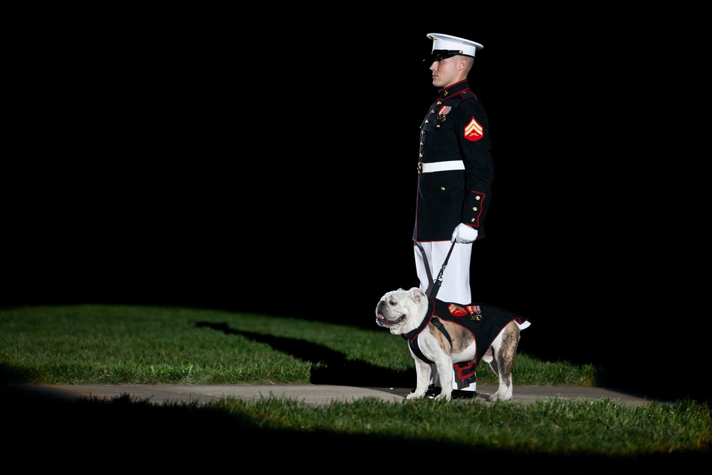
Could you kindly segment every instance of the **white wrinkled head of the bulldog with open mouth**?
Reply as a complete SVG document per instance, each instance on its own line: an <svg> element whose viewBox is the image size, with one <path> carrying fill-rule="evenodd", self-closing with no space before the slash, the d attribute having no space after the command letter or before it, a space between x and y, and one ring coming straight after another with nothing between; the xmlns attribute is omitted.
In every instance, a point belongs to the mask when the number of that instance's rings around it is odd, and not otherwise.
<svg viewBox="0 0 712 475"><path fill-rule="evenodd" d="M394 335L408 333L419 325L423 304L427 306L426 295L417 287L387 292L376 306L376 324L389 328Z"/></svg>

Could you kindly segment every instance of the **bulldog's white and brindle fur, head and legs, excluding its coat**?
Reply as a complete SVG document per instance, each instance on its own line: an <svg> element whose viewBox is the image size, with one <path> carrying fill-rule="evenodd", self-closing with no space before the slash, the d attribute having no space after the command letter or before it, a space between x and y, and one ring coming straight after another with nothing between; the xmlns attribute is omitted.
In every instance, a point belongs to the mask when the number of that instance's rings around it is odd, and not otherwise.
<svg viewBox="0 0 712 475"><path fill-rule="evenodd" d="M387 292L376 306L377 325L389 328L394 335L405 335L415 330L426 318L428 298L417 287L409 291L399 288L397 291ZM446 320L441 322L450 335L452 345L432 322L418 338L420 349L425 357L435 362L440 377L442 390L435 399L449 401L452 393L453 364L469 360L476 365L477 343L472 333L461 325ZM511 321L501 330L482 357L499 378L498 389L488 398L489 401L512 400L512 367L519 339L520 329ZM420 399L428 389L432 368L429 362L422 361L410 351L415 360L417 387L407 399Z"/></svg>

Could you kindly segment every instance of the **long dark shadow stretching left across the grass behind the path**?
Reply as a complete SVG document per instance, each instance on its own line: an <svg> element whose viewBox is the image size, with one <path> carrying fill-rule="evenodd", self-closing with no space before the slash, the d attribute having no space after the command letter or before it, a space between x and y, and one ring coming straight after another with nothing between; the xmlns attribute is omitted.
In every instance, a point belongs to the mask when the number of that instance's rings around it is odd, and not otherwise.
<svg viewBox="0 0 712 475"><path fill-rule="evenodd" d="M227 323L197 322L195 325L266 343L274 350L311 362L314 367L309 382L315 385L415 387L415 367L413 370L398 372L362 361L347 360L343 353L306 340L234 330Z"/></svg>

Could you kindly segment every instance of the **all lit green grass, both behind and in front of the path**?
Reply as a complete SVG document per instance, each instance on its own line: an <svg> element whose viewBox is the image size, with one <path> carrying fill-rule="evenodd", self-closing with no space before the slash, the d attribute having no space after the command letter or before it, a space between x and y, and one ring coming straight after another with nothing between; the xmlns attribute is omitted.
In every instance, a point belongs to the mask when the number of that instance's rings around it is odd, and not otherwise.
<svg viewBox="0 0 712 475"><path fill-rule="evenodd" d="M375 326L375 323L374 323ZM604 372L565 360L519 353L516 385L600 385ZM496 383L487 365L478 383ZM402 338L323 322L219 310L152 306L37 306L0 310L0 382L44 384L348 384L412 387L415 370ZM367 398L312 407L269 397L224 398L211 404L148 404L117 398L83 400L61 411L23 407L4 398L4 411L35 424L77 427L77 421L132 422L164 430L249 434L248 446L277 440L309 450L339 442L370 450L456 447L485 459L525 461L557 456L578 471L604 460L660 468L680 456L709 454L707 404L689 400L626 406L612 400L540 400L461 404L404 403ZM8 407L9 405L13 407ZM117 414L120 414L117 415ZM174 427L182 421L181 429ZM13 427L22 432L28 424ZM31 425L31 424L30 424ZM6 431L7 429L6 425ZM56 445L56 442L53 442ZM58 446L61 447L61 444ZM284 447L282 451L286 450ZM613 462L614 461L614 462ZM560 465L564 466L564 465Z"/></svg>

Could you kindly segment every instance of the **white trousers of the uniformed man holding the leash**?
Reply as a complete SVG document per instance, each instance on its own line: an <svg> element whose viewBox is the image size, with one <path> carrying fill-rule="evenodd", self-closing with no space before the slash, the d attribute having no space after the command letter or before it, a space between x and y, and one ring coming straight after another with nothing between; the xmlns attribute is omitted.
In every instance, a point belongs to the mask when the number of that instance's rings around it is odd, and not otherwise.
<svg viewBox="0 0 712 475"><path fill-rule="evenodd" d="M440 269L445 262L447 254L450 252L452 243L450 241L435 241L422 242L425 255L428 258L430 265L430 273L433 276L433 281L436 281ZM420 281L420 290L426 291L429 286L428 274L425 270L425 261L419 247L413 243L415 252L415 270L418 273ZM447 261L445 270L443 271L440 289L437 293L437 298L441 301L463 303L468 305L472 303L472 291L470 288L470 258L472 256L472 244L455 244L450 254L450 259ZM439 386L440 378L435 365L432 367L431 384ZM452 370L453 380L452 388L454 390L475 391L477 383L463 386L457 372Z"/></svg>

